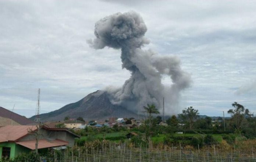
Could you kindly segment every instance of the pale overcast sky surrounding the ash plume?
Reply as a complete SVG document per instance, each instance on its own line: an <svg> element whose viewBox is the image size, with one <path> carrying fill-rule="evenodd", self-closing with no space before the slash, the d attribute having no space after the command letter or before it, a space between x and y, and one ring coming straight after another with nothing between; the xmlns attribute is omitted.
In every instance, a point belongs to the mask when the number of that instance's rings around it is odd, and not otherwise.
<svg viewBox="0 0 256 162"><path fill-rule="evenodd" d="M130 77L121 51L94 50L86 40L98 20L128 11L145 21L143 48L179 57L191 75L180 112L193 106L200 115L228 116L233 102L256 112L255 1L1 0L0 11L0 106L20 115L36 114L39 88L45 113L121 87Z"/></svg>

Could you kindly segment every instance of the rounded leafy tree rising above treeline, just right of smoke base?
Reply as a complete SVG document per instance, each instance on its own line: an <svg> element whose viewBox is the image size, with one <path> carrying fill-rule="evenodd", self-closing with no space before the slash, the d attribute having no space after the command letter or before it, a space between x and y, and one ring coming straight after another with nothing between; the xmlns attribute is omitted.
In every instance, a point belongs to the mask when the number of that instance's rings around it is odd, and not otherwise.
<svg viewBox="0 0 256 162"><path fill-rule="evenodd" d="M185 123L189 124L189 128L192 129L195 120L198 118L198 110L192 106L182 110L182 114L178 114L179 118Z"/></svg>

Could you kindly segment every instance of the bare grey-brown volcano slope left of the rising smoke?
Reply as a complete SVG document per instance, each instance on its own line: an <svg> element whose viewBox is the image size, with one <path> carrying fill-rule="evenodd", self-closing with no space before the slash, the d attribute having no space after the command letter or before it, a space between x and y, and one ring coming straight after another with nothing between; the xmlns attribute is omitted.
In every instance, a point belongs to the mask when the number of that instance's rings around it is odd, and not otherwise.
<svg viewBox="0 0 256 162"><path fill-rule="evenodd" d="M104 91L96 91L88 94L75 103L65 105L64 107L45 114L40 114L41 121L63 120L66 116L85 120L107 119L109 117L135 117L136 114L124 107L111 104L108 94ZM32 116L31 119L34 119Z"/></svg>

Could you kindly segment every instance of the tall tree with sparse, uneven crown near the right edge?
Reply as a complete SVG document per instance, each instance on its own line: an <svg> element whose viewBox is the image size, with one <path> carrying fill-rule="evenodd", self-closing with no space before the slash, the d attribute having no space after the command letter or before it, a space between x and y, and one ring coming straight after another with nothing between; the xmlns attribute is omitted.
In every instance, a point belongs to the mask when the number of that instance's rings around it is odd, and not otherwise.
<svg viewBox="0 0 256 162"><path fill-rule="evenodd" d="M235 127L235 130L238 133L241 133L241 126L243 123L243 120L245 117L251 117L253 116L250 114L250 111L248 109L245 109L245 107L241 104L238 104L237 102L234 102L232 104L232 107L234 109L229 109L228 114L231 114L231 120L233 121L233 126ZM232 125L232 122L231 122Z"/></svg>

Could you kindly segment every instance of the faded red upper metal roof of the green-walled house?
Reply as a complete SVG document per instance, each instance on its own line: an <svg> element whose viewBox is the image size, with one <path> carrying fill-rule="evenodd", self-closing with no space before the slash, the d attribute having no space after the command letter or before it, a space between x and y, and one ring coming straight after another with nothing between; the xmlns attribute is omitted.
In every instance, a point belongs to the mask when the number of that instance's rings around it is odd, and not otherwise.
<svg viewBox="0 0 256 162"><path fill-rule="evenodd" d="M7 141L15 141L28 134L29 130L36 130L36 126L18 125L0 127L0 143Z"/></svg>

